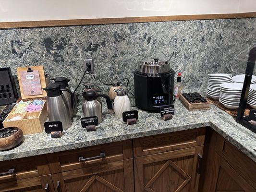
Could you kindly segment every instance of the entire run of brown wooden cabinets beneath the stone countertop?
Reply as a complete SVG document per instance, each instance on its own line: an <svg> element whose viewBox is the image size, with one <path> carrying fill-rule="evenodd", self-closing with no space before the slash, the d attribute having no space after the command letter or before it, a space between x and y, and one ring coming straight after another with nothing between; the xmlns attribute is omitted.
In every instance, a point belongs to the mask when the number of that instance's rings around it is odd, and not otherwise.
<svg viewBox="0 0 256 192"><path fill-rule="evenodd" d="M256 192L255 173L199 128L0 162L0 192Z"/></svg>

